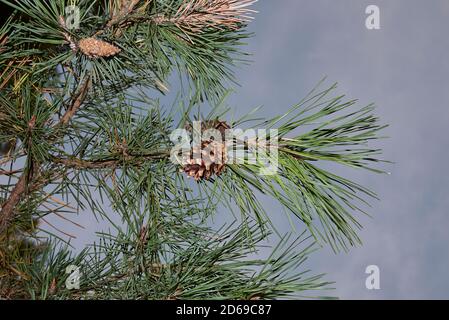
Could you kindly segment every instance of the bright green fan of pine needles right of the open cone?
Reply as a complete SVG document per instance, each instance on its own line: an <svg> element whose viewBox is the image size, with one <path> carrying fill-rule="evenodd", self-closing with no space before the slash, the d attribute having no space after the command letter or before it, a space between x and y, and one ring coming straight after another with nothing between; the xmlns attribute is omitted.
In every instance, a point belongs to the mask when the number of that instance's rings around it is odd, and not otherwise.
<svg viewBox="0 0 449 320"><path fill-rule="evenodd" d="M368 200L376 199L376 194L320 164L383 173L375 165L386 161L378 158L379 149L368 144L382 138L379 132L386 126L379 124L372 105L357 108L355 101L345 101L344 96L331 97L335 88L317 88L286 114L255 125L256 129L277 130L273 149L268 145L256 152L250 146L243 163L229 164L225 175L215 179L212 186L205 183L202 187L220 200L228 195L231 208L235 204L259 221L275 219L257 200L256 192L266 194L335 251L361 244L357 230L362 226L353 213L365 214L362 207L369 206ZM269 135L266 138L270 140ZM245 143L249 142L242 140L233 147L238 149ZM249 156L255 156L256 161L247 161ZM267 164L278 166L277 171L263 174Z"/></svg>

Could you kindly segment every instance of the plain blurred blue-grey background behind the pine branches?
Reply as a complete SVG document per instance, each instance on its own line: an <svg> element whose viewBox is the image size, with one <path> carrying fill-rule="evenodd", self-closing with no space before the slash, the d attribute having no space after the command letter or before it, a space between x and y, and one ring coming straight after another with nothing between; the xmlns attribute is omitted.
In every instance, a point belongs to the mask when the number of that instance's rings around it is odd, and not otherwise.
<svg viewBox="0 0 449 320"><path fill-rule="evenodd" d="M365 28L369 4L380 7L381 30ZM336 281L332 294L343 299L449 298L449 1L262 0L255 8L246 48L253 63L237 71L241 87L230 98L238 114L263 105L259 114L278 115L327 76L360 105L375 102L391 125L381 143L395 162L386 167L391 175L337 171L381 198L373 218L361 219L363 247L338 255L325 248L308 267ZM273 217L284 215L263 201ZM79 220L86 230L63 227L78 234L78 248L99 227L92 217ZM365 288L371 264L380 268L380 290Z"/></svg>

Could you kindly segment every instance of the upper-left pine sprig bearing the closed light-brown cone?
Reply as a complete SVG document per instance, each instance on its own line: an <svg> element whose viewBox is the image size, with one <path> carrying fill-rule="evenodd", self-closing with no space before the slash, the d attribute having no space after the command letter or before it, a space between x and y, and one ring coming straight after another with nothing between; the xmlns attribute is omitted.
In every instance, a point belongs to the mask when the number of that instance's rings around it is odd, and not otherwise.
<svg viewBox="0 0 449 320"><path fill-rule="evenodd" d="M252 11L246 7L253 2L214 0L203 12L201 1L141 1L117 13L99 1L77 0L73 4L80 10L80 29L69 30L65 1L2 1L26 17L15 23L12 42L16 52L38 60L37 72L59 65L70 66L78 77L88 71L96 90L105 94L105 86L124 83L165 93L167 78L177 70L191 80L199 98L211 99L224 93L226 83L235 82L233 66L242 61L239 47L249 36L245 27ZM104 15L97 15L100 10ZM190 22L161 20L172 14L190 17L181 19ZM198 18L204 15L209 18ZM213 28L206 26L211 19Z"/></svg>

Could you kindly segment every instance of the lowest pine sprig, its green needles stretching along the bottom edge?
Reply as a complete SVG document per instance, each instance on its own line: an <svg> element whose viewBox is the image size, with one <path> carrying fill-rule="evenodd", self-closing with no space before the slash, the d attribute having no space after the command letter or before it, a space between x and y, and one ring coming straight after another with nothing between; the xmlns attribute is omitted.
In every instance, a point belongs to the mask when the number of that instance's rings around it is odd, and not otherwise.
<svg viewBox="0 0 449 320"><path fill-rule="evenodd" d="M140 238L129 241L128 235L103 234L99 245L76 256L50 245L33 264L21 265L20 272L31 279L28 294L34 299L259 300L312 298L308 292L320 295L330 288L331 283L323 281L322 275L311 276L308 270L292 275L315 248L303 235L296 240L282 239L270 256L253 260L249 255L255 253L254 247L241 228L198 230L184 223L190 228L182 231L196 241L181 247L166 246L161 257L141 251ZM252 229L254 234L257 230ZM174 236L167 231L160 242ZM201 233L194 236L192 231ZM259 235L257 242L262 239ZM80 267L79 290L65 288L65 268L69 265Z"/></svg>

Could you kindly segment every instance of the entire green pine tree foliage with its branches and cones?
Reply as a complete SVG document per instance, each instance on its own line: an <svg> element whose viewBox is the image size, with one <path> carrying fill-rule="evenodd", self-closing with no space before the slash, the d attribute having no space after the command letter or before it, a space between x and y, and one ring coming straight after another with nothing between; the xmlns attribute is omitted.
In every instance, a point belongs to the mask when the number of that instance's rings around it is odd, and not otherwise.
<svg viewBox="0 0 449 320"><path fill-rule="evenodd" d="M1 299L329 294L304 262L360 244L357 215L375 194L322 164L382 172L368 144L384 126L323 84L273 119L233 119L226 96L256 1L0 2ZM173 74L170 108L159 98ZM225 139L231 129L270 133ZM180 154L176 130L189 146L203 136ZM233 162L235 148L254 157ZM85 215L106 227L75 250L52 221L81 228ZM299 231L283 234L289 216Z"/></svg>

